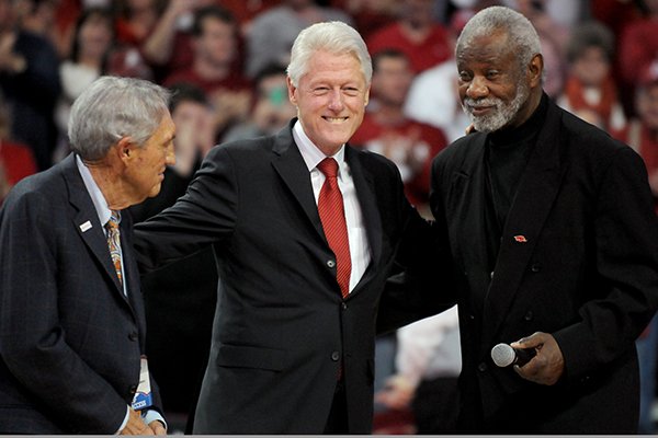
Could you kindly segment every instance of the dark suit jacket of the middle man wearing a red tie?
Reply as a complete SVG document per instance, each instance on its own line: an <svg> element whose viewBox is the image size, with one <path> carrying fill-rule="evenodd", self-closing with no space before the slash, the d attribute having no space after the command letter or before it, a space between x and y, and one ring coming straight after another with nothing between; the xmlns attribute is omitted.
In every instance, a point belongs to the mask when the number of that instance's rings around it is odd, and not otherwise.
<svg viewBox="0 0 658 438"><path fill-rule="evenodd" d="M395 164L347 147L372 262L343 301L291 128L215 148L185 196L136 226L145 265L206 244L218 260L195 434L321 434L341 362L349 430L371 431L377 303L404 233L427 224Z"/></svg>

